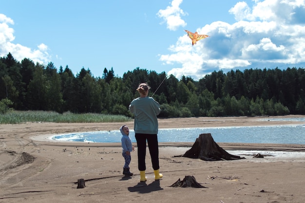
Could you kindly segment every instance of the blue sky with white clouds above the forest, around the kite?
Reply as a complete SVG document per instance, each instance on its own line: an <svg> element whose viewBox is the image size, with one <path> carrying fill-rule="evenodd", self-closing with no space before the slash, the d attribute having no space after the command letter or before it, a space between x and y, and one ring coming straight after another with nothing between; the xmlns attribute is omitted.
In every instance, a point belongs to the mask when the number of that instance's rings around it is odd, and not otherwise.
<svg viewBox="0 0 305 203"><path fill-rule="evenodd" d="M184 30L209 35L194 46ZM6 0L0 56L95 77L305 68L305 0Z"/></svg>

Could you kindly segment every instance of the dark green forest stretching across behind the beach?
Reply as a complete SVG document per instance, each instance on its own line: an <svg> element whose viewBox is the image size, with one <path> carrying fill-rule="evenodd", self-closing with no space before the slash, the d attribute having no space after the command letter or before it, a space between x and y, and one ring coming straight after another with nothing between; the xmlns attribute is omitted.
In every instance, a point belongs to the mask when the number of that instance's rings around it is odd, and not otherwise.
<svg viewBox="0 0 305 203"><path fill-rule="evenodd" d="M0 57L0 114L13 109L133 117L128 106L142 82L151 86L150 96L155 92L164 118L305 114L304 68L214 71L198 81L139 67L122 77L113 68L102 73L94 77L82 68L74 75L68 65L57 70L52 62L20 62L9 53Z"/></svg>

